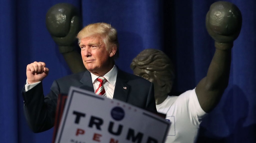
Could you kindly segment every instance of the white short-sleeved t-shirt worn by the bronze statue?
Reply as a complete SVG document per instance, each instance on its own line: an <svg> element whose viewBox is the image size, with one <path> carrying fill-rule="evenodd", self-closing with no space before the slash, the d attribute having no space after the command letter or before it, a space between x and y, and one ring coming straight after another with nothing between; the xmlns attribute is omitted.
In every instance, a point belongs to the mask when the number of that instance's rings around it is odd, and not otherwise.
<svg viewBox="0 0 256 143"><path fill-rule="evenodd" d="M166 114L165 119L171 122L166 143L196 142L199 125L207 113L199 105L195 89L179 96L168 96L156 109Z"/></svg>

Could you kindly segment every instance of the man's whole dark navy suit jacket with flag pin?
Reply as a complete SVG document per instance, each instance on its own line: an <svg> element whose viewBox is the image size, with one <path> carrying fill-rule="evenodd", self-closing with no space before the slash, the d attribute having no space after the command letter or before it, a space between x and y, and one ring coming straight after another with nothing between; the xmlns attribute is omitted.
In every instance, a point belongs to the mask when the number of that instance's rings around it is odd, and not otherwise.
<svg viewBox="0 0 256 143"><path fill-rule="evenodd" d="M42 82L22 95L24 113L29 127L34 133L46 131L54 126L58 94L67 95L70 86L94 92L89 71L68 75L55 80L51 91L44 97ZM123 89L126 87L126 89ZM153 83L142 77L129 74L118 69L113 98L134 106L156 111Z"/></svg>

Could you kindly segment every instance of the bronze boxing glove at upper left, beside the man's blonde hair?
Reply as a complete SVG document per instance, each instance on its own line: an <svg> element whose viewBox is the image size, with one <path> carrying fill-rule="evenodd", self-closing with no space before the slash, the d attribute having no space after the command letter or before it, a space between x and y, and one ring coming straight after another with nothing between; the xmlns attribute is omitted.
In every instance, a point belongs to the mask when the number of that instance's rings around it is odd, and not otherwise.
<svg viewBox="0 0 256 143"><path fill-rule="evenodd" d="M46 28L58 46L70 46L80 30L80 18L74 6L59 3L46 14Z"/></svg>

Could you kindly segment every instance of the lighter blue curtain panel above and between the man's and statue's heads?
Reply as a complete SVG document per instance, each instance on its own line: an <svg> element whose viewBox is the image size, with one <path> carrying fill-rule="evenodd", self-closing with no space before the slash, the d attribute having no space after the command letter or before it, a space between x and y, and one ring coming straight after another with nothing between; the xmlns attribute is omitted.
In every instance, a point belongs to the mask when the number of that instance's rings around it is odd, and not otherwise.
<svg viewBox="0 0 256 143"><path fill-rule="evenodd" d="M118 30L120 69L132 73L130 63L147 48L162 48L162 1L82 1L83 25L111 23Z"/></svg>

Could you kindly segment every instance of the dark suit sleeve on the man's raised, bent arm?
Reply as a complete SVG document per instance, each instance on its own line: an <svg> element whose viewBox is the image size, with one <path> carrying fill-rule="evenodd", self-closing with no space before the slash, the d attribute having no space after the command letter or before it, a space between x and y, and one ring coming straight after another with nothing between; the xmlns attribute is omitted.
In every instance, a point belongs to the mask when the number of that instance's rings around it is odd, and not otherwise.
<svg viewBox="0 0 256 143"><path fill-rule="evenodd" d="M55 112L58 98L58 84L56 81L52 84L49 94L44 97L42 82L25 92L23 88L22 96L24 98L24 114L29 128L34 133L44 132L54 126Z"/></svg>

